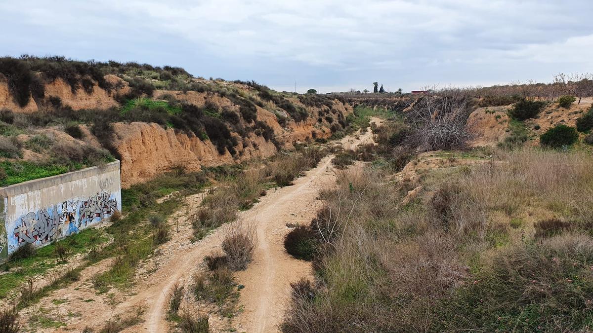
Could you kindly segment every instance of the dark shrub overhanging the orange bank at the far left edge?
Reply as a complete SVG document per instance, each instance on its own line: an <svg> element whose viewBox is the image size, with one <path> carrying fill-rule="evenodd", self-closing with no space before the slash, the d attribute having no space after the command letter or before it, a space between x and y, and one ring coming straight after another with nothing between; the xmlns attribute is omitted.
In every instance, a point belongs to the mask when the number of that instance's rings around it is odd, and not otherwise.
<svg viewBox="0 0 593 333"><path fill-rule="evenodd" d="M11 57L0 58L0 73L8 79L8 89L20 107L29 103L33 74L27 63Z"/></svg>

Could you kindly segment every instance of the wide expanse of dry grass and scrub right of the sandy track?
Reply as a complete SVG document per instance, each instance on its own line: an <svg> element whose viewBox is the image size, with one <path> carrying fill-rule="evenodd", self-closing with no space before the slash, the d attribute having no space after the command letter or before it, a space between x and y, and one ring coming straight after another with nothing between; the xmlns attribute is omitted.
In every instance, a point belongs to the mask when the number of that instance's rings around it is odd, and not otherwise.
<svg viewBox="0 0 593 333"><path fill-rule="evenodd" d="M293 286L283 331L586 331L590 156L496 152L422 183L398 209L406 184L339 173L311 225L317 281Z"/></svg>

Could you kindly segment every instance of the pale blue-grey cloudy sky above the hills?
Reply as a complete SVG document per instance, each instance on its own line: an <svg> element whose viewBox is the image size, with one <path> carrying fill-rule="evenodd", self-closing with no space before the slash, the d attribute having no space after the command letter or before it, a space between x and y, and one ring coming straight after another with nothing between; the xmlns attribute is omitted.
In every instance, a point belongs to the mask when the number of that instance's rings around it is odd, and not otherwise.
<svg viewBox="0 0 593 333"><path fill-rule="evenodd" d="M171 65L282 91L593 72L591 0L4 0L0 54Z"/></svg>

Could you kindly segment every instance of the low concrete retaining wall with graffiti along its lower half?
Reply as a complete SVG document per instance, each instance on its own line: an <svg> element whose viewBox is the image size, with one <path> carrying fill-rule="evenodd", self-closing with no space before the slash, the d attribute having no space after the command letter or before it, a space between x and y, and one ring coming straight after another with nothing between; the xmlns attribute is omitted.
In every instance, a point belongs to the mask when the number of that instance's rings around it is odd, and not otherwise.
<svg viewBox="0 0 593 333"><path fill-rule="evenodd" d="M44 246L122 210L119 161L0 188L0 261Z"/></svg>

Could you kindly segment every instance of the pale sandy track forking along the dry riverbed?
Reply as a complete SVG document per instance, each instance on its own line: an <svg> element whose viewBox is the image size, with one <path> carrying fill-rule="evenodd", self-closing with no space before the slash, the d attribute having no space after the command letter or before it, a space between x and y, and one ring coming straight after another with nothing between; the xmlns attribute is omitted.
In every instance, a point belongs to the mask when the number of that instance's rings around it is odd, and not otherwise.
<svg viewBox="0 0 593 333"><path fill-rule="evenodd" d="M380 124L381 119L372 118L371 122ZM355 149L361 143L372 142L370 130L362 135L357 132L355 136L346 136L340 140L346 149ZM332 158L333 155L326 156L317 167L297 178L294 185L268 191L253 208L240 213L240 219L253 222L256 226L259 244L254 253L254 260L247 270L237 272L237 283L245 286L239 299L239 306L242 306L244 311L232 322L238 331L278 331L278 324L282 321L291 292L290 283L312 275L310 262L294 259L286 253L283 238L290 231L286 223L307 224L313 219L321 205L316 199L317 191L335 182ZM196 207L202 197L203 194L188 197L189 206ZM58 331L82 329L86 325L96 328L116 313L122 316L133 313L135 306L139 304L146 306L145 322L126 329L125 332L168 331L169 323L165 315L171 289L175 284L190 284L190 277L202 263L203 257L215 249L220 249L222 235L227 228L227 225L223 225L201 241L191 243L192 229L186 221L186 213L181 209L171 217L170 223L176 219L180 221L179 231L173 234L171 241L157 250L158 254L141 265L141 271L136 277L136 286L130 293L122 296L122 299L114 302L115 304L103 307L99 313L93 310L82 312L76 323L73 322L67 328L60 328ZM151 269L151 265L154 265L154 268ZM104 270L106 267L101 268ZM88 281L88 277L84 280ZM80 292L78 286L67 289ZM90 286L88 289L91 292ZM64 291L56 290L52 294L63 295ZM77 306L82 304L78 303Z"/></svg>

